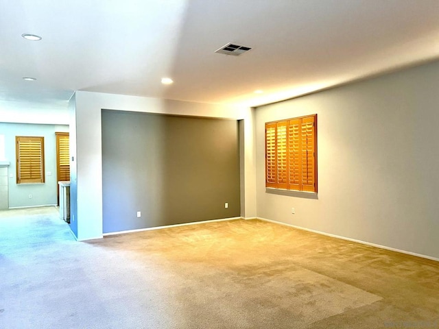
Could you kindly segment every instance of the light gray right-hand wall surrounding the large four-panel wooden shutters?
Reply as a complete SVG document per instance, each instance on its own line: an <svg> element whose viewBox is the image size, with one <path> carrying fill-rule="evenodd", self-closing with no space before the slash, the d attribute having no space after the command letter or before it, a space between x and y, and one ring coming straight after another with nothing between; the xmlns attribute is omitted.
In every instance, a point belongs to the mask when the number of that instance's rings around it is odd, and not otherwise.
<svg viewBox="0 0 439 329"><path fill-rule="evenodd" d="M258 217L439 258L438 86L435 62L257 108ZM265 122L313 113L318 199L268 193Z"/></svg>

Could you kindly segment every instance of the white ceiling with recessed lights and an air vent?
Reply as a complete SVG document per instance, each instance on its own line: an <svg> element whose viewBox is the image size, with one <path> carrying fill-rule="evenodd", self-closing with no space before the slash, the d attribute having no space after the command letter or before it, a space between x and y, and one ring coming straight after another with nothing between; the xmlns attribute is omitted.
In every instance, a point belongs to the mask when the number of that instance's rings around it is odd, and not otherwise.
<svg viewBox="0 0 439 329"><path fill-rule="evenodd" d="M257 106L434 60L438 18L438 0L0 0L0 106L73 90ZM252 50L214 53L228 42Z"/></svg>

